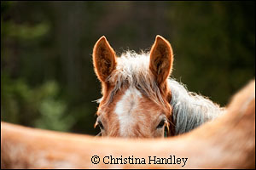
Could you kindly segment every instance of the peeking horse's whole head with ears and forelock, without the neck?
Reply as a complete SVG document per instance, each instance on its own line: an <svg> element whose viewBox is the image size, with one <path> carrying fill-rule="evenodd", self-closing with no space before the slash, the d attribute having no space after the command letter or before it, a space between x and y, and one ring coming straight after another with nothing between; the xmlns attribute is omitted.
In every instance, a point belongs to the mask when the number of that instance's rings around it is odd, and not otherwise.
<svg viewBox="0 0 256 170"><path fill-rule="evenodd" d="M93 61L103 94L96 126L102 136L164 137L171 121L171 92L166 85L172 71L171 45L157 36L150 56L135 59L116 58L105 37L96 42Z"/></svg>

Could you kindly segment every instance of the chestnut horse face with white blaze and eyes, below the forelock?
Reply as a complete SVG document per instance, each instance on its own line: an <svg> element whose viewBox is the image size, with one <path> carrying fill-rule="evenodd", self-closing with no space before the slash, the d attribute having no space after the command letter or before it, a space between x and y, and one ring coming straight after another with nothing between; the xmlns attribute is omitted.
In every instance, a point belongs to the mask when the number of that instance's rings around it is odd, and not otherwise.
<svg viewBox="0 0 256 170"><path fill-rule="evenodd" d="M96 125L101 128L102 136L163 137L169 113L170 110L164 110L136 88L124 88L108 106L102 101Z"/></svg>

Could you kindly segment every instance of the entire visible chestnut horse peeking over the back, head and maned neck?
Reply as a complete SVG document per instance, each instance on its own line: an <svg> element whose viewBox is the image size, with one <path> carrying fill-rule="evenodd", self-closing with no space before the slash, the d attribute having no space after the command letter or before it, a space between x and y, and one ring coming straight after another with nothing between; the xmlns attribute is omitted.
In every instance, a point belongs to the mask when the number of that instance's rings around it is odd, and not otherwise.
<svg viewBox="0 0 256 170"><path fill-rule="evenodd" d="M117 57L103 36L96 42L92 58L102 84L95 124L102 136L174 136L224 113L223 107L189 92L183 83L170 77L173 52L164 37L155 37L149 53L128 50Z"/></svg>

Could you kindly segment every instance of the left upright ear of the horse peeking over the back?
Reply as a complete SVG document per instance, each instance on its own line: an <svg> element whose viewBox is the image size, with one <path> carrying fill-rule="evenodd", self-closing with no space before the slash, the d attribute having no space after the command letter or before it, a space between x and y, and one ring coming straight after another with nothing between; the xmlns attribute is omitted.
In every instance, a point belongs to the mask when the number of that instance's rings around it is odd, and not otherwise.
<svg viewBox="0 0 256 170"><path fill-rule="evenodd" d="M106 82L116 67L115 53L104 36L96 42L93 48L93 65L96 76L102 82Z"/></svg>

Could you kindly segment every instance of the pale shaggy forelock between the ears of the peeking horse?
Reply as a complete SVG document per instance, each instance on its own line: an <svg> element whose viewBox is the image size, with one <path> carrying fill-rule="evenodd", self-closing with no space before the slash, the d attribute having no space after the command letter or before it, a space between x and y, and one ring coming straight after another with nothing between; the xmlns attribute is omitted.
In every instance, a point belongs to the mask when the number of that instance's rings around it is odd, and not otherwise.
<svg viewBox="0 0 256 170"><path fill-rule="evenodd" d="M108 77L107 81L113 85L107 104L112 102L114 95L121 88L129 87L137 88L148 99L166 107L160 88L153 74L149 71L148 53L141 52L141 54L137 54L133 51L127 51L122 54L117 58L116 69Z"/></svg>

